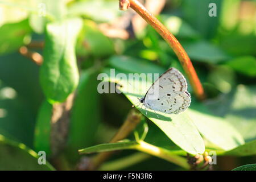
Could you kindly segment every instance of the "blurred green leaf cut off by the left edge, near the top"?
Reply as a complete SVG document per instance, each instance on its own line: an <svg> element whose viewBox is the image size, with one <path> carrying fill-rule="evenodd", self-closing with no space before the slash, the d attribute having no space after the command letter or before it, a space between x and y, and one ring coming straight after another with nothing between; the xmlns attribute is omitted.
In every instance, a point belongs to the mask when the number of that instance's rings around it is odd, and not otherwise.
<svg viewBox="0 0 256 182"><path fill-rule="evenodd" d="M18 23L8 23L0 27L0 54L10 53L30 42L31 28L28 20Z"/></svg>

